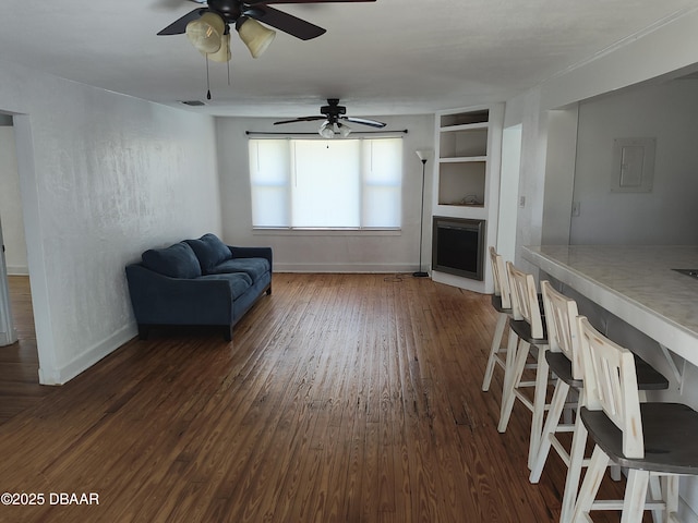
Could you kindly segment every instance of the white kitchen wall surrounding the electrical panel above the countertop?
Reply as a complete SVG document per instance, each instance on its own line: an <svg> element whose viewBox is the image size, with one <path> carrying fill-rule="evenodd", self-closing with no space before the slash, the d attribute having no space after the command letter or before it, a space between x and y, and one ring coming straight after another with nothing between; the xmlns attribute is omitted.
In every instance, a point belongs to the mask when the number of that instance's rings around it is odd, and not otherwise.
<svg viewBox="0 0 698 523"><path fill-rule="evenodd" d="M698 81L637 87L579 106L570 244L697 244ZM613 141L657 138L649 193L613 193ZM617 173L616 173L617 174Z"/></svg>

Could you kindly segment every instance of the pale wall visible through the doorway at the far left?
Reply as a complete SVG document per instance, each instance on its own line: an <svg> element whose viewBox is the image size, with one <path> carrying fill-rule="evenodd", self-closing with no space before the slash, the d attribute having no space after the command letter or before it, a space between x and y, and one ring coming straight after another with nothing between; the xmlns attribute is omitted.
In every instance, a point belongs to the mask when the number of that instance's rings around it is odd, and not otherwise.
<svg viewBox="0 0 698 523"><path fill-rule="evenodd" d="M12 125L0 126L0 224L8 273L28 273L20 175Z"/></svg>

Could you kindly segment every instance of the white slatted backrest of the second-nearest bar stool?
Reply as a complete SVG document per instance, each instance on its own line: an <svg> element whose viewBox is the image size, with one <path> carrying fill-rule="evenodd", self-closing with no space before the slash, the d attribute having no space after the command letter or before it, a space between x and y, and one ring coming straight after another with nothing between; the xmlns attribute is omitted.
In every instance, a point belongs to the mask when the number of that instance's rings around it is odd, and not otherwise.
<svg viewBox="0 0 698 523"><path fill-rule="evenodd" d="M550 281L541 281L541 294L550 350L565 354L571 362L571 377L582 379L583 366L577 335L577 302L557 292Z"/></svg>

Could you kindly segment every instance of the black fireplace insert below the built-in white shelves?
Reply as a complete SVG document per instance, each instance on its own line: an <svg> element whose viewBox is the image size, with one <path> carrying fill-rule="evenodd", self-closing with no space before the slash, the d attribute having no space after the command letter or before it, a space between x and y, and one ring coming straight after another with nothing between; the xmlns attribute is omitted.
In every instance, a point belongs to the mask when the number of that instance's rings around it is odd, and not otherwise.
<svg viewBox="0 0 698 523"><path fill-rule="evenodd" d="M435 216L432 270L482 281L484 220Z"/></svg>

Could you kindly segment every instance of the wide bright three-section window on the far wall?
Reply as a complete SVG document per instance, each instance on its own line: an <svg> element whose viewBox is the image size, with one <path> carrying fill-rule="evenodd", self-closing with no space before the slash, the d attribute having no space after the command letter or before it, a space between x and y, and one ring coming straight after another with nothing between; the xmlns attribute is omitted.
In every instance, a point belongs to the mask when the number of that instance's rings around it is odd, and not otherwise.
<svg viewBox="0 0 698 523"><path fill-rule="evenodd" d="M250 139L252 224L398 229L402 139Z"/></svg>

